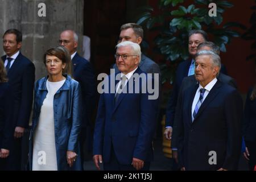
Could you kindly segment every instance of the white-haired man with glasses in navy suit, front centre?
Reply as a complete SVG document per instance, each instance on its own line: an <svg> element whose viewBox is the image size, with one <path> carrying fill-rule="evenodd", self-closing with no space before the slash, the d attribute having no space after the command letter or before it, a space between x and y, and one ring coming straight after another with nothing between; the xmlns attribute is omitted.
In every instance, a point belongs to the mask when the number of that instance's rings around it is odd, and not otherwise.
<svg viewBox="0 0 256 182"><path fill-rule="evenodd" d="M121 72L115 73L115 77L120 79L115 79L113 93L111 81L106 81L109 90L100 96L93 137L94 164L100 169L99 163L103 163L107 171L149 170L159 99L150 100L148 90L142 92L150 78L138 67L141 61L139 44L119 43L115 61ZM145 76L147 81L140 82L135 78L137 74ZM140 92L130 92L130 88L136 90L137 84Z"/></svg>

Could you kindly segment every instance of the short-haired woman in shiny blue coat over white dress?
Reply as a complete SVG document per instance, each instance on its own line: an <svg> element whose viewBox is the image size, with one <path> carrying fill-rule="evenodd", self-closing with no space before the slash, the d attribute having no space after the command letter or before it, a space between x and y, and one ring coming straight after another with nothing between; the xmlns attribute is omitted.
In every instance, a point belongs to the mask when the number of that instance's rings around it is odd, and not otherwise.
<svg viewBox="0 0 256 182"><path fill-rule="evenodd" d="M64 47L51 48L44 64L48 75L36 81L34 90L30 169L81 170L81 90L71 78L71 57Z"/></svg>

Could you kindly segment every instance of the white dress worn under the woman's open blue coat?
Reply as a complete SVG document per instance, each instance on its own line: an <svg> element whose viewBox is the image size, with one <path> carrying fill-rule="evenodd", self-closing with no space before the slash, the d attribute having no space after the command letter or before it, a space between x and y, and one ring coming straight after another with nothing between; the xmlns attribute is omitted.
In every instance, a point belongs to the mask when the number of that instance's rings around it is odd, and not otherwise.
<svg viewBox="0 0 256 182"><path fill-rule="evenodd" d="M33 171L57 171L55 131L53 118L53 98L65 80L46 81L48 93L43 101L33 144Z"/></svg>

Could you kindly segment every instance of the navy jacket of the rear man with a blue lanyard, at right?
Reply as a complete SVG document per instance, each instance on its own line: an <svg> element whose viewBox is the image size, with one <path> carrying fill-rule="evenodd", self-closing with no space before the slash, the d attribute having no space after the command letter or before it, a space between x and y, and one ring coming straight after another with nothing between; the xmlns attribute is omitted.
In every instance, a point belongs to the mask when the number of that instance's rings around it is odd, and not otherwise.
<svg viewBox="0 0 256 182"><path fill-rule="evenodd" d="M166 126L174 126L175 108L177 104L177 97L179 95L179 90L184 77L188 76L189 67L192 60L187 60L181 62L176 71L176 78L174 81L174 86L172 93L166 105ZM226 68L221 64L221 73L226 74Z"/></svg>

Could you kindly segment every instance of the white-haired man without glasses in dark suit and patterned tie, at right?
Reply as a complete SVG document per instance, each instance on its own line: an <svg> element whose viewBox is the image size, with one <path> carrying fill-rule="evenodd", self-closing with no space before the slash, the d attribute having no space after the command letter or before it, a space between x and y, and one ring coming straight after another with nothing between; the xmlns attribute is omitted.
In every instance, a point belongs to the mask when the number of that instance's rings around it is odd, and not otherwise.
<svg viewBox="0 0 256 182"><path fill-rule="evenodd" d="M216 77L220 57L200 51L195 62L199 84L181 94L177 121L179 163L183 170L236 170L241 152L242 98Z"/></svg>

